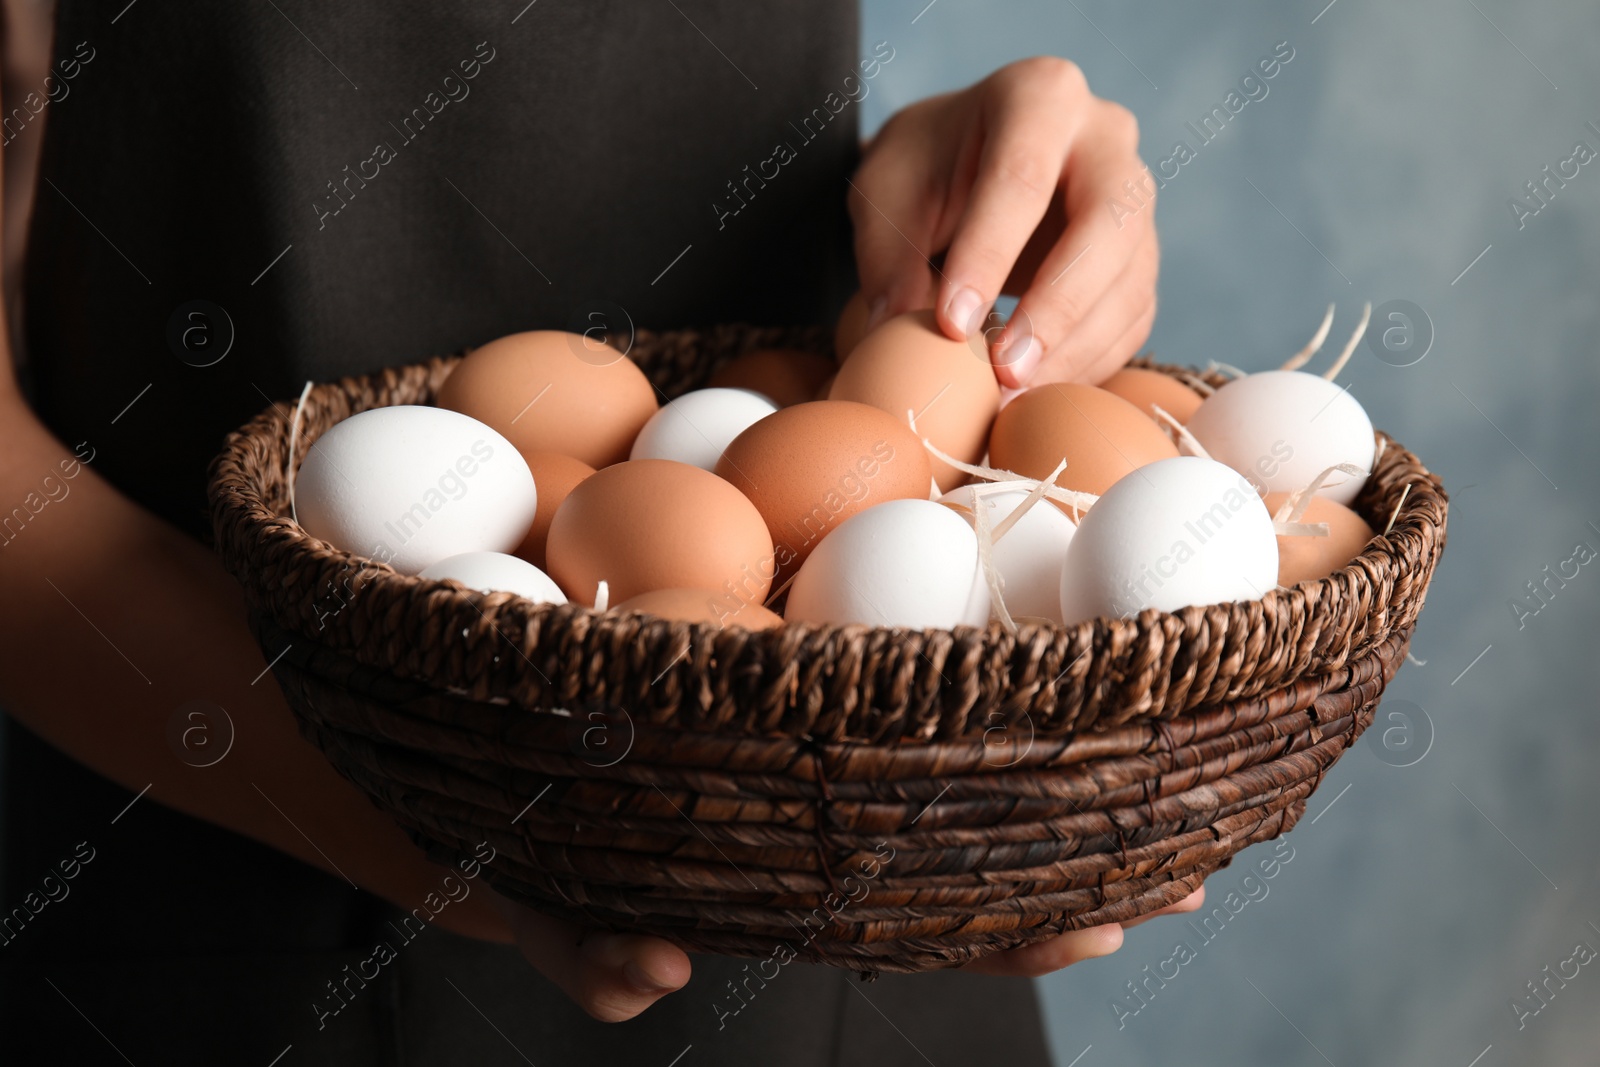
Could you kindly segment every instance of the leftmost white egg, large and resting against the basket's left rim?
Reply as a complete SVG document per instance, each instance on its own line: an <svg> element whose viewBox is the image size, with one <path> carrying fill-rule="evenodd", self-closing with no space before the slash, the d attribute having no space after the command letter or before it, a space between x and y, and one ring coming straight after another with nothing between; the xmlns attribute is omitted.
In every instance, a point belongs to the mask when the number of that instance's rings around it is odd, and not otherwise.
<svg viewBox="0 0 1600 1067"><path fill-rule="evenodd" d="M536 504L515 446L443 408L354 414L317 438L294 482L306 533L402 574L462 552L515 549Z"/></svg>

